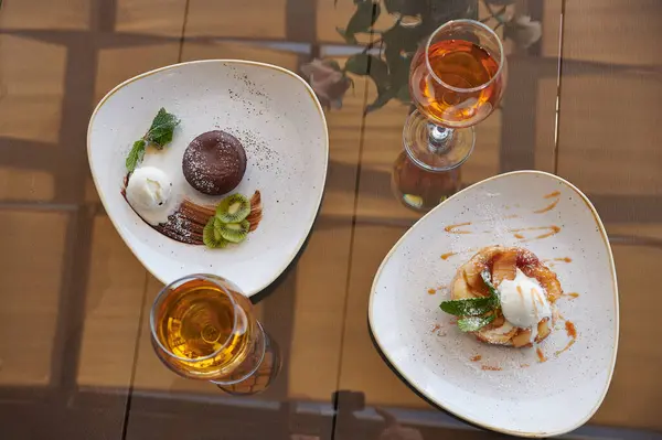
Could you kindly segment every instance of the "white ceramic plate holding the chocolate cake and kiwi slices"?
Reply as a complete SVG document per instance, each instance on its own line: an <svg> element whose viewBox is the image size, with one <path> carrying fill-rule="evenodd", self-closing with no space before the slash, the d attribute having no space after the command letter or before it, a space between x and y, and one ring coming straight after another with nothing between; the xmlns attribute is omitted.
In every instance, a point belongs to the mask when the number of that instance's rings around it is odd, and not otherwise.
<svg viewBox="0 0 662 440"><path fill-rule="evenodd" d="M127 152L161 107L181 119L162 160L181 163L189 142L204 131L221 129L242 141L246 174L233 193L250 196L259 190L264 217L241 245L206 249L174 242L143 223L120 194ZM293 73L246 61L199 61L141 74L106 95L89 121L87 154L113 224L154 277L168 283L184 275L215 273L252 296L287 268L312 227L327 178L329 137L312 89ZM153 160L149 154L146 164ZM173 191L188 191L199 203L222 198L192 190L181 168L171 178Z"/></svg>

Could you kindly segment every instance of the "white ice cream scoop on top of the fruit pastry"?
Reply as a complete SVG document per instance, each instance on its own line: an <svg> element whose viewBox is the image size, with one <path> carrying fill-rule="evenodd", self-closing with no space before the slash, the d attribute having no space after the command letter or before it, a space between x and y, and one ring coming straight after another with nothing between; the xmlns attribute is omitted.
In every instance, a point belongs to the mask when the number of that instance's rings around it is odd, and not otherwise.
<svg viewBox="0 0 662 440"><path fill-rule="evenodd" d="M535 278L528 278L520 269L515 279L501 281L499 292L503 316L513 325L534 328L542 319L552 316L544 289Z"/></svg>

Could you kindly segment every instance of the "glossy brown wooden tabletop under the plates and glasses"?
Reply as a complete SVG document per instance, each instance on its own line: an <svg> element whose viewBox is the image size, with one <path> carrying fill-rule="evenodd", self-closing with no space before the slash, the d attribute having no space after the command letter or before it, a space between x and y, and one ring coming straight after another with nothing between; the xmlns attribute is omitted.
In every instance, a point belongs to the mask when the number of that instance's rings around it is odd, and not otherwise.
<svg viewBox="0 0 662 440"><path fill-rule="evenodd" d="M662 431L662 297L654 282L662 270L662 2L511 8L542 20L543 39L534 50L511 50L504 106L477 127L462 182L538 169L589 195L612 238L621 307L616 374L590 423ZM354 49L335 28L353 10L351 0L2 1L0 405L10 410L0 411L0 425L13 427L12 439L49 438L11 419L42 393L64 406L82 390L115 396L102 411L103 432L86 439L159 432L157 421L132 417L168 414L134 395L218 395L211 384L178 378L152 353L146 316L161 286L125 246L92 182L85 139L96 103L138 73L191 60L246 58L298 72L331 53L342 64ZM285 364L257 400L333 405L333 393L344 389L363 393L369 406L437 414L370 340L374 272L419 215L391 190L408 106L392 101L364 116L376 88L353 79L342 109L327 112L330 168L313 233L258 304ZM319 436L342 431L343 419L335 427L324 420ZM195 419L189 422L194 429ZM60 428L56 420L45 426ZM483 438L471 432L467 438Z"/></svg>

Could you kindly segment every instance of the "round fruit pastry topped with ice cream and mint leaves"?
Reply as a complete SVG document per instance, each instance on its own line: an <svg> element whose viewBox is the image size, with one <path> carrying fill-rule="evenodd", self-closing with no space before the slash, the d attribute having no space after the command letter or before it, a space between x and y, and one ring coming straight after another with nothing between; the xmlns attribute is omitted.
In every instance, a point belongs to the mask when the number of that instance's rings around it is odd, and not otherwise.
<svg viewBox="0 0 662 440"><path fill-rule="evenodd" d="M563 294L556 273L533 253L502 246L482 248L460 266L450 290L441 309L459 316L460 330L515 347L549 335Z"/></svg>

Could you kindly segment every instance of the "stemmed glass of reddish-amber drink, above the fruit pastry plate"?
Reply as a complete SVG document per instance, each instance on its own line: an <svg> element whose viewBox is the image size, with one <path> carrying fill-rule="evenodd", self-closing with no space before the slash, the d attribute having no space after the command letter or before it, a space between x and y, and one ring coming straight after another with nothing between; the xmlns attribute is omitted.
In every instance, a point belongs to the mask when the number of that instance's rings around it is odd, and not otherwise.
<svg viewBox="0 0 662 440"><path fill-rule="evenodd" d="M459 167L476 143L474 125L499 105L506 81L503 45L489 26L453 20L439 26L412 60L417 110L403 132L412 160L429 171Z"/></svg>

